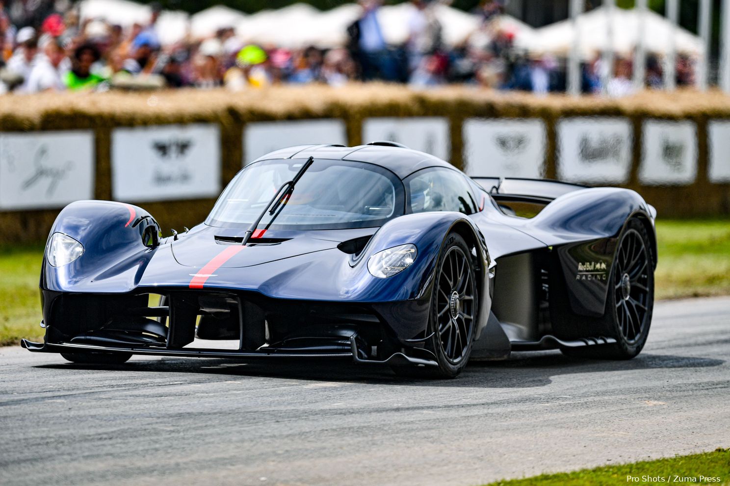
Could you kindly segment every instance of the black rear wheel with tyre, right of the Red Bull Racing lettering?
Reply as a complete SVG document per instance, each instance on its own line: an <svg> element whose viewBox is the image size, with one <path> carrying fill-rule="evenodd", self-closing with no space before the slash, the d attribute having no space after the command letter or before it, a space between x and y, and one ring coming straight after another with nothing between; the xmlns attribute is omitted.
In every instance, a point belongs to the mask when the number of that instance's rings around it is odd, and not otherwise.
<svg viewBox="0 0 730 486"><path fill-rule="evenodd" d="M652 245L645 226L629 220L616 246L602 325L613 344L563 348L576 358L629 360L639 355L649 336L654 307Z"/></svg>

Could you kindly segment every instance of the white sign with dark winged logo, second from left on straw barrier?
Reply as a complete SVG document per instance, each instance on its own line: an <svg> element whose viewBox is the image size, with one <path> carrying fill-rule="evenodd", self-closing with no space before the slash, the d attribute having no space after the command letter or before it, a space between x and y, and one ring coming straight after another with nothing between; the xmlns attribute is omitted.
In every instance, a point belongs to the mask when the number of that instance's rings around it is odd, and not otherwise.
<svg viewBox="0 0 730 486"><path fill-rule="evenodd" d="M121 201L214 198L220 193L217 125L115 128L112 197Z"/></svg>

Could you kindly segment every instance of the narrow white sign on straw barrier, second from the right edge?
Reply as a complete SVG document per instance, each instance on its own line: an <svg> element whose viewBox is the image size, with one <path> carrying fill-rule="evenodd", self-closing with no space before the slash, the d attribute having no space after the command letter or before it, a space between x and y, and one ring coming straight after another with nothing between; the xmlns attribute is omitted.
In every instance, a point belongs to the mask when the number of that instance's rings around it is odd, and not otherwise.
<svg viewBox="0 0 730 486"><path fill-rule="evenodd" d="M697 136L693 122L646 120L642 130L639 182L687 185L697 175Z"/></svg>

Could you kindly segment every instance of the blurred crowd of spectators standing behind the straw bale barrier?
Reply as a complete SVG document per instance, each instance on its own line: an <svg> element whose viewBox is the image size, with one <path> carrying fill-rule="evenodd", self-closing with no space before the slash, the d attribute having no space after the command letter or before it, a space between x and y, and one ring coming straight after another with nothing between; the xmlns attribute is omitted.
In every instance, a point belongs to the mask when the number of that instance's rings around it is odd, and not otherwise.
<svg viewBox="0 0 730 486"><path fill-rule="evenodd" d="M129 28L99 19L80 20L70 0L0 0L0 93L106 90L111 87L214 88L231 90L279 83L383 80L429 87L471 83L536 94L565 89L565 61L515 47L515 32L499 22L507 0L485 0L480 28L458 46L443 41L436 0L412 0L407 42L389 45L378 18L380 0L360 0L361 16L347 27L347 45L301 50L244 45L234 28L208 39L162 45L160 6L145 25ZM607 85L599 55L583 65L583 91L623 96L634 89L631 60L615 59ZM661 88L657 58L647 63L647 85ZM694 82L691 60L679 56L677 84Z"/></svg>

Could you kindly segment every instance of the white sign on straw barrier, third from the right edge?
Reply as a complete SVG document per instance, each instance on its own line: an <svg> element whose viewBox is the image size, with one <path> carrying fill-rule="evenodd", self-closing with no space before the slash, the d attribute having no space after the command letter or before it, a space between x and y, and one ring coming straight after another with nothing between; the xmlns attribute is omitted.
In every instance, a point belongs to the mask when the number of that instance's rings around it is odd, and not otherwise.
<svg viewBox="0 0 730 486"><path fill-rule="evenodd" d="M558 120L558 178L570 182L623 184L631 171L631 121L619 117Z"/></svg>

